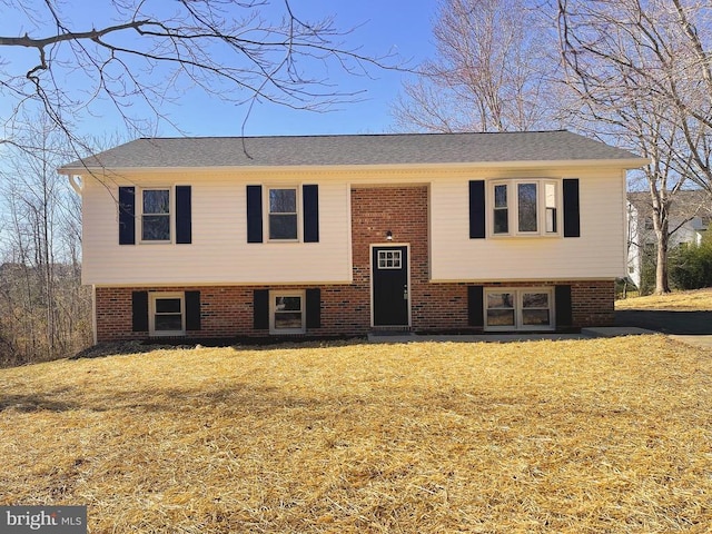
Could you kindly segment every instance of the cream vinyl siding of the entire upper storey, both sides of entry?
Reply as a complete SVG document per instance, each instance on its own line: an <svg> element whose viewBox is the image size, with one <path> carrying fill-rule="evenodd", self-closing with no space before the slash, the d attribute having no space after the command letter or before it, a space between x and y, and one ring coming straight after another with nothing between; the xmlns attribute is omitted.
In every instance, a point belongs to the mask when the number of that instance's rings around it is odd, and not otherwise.
<svg viewBox="0 0 712 534"><path fill-rule="evenodd" d="M471 239L468 180L580 180L581 237ZM486 169L195 171L132 174L107 185L192 186L190 246L119 246L116 190L85 177L82 281L97 285L348 284L353 276L350 188L429 186L429 275L433 281L602 279L625 275L624 171L605 166ZM246 185L319 186L319 243L247 243ZM172 189L171 189L172 190ZM542 195L540 192L540 195ZM545 196L545 194L544 194ZM561 196L558 197L561 201ZM541 202L540 205L544 205ZM491 210L491 202L487 209ZM300 207L298 206L298 209ZM488 216L490 217L490 216ZM541 217L544 220L545 217ZM388 228L384 228L385 233ZM487 218L487 233L491 219ZM385 234L380 234L382 236ZM385 240L385 237L383 238Z"/></svg>

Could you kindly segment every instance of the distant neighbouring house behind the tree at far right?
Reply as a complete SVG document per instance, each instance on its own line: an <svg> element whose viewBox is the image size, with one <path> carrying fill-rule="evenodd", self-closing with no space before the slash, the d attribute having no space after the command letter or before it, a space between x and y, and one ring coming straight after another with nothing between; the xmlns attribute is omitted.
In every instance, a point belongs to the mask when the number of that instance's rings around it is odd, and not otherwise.
<svg viewBox="0 0 712 534"><path fill-rule="evenodd" d="M653 202L650 192L627 194L627 277L641 287L644 261L655 263ZM669 249L681 244L700 245L712 220L712 197L702 189L675 192L669 210Z"/></svg>

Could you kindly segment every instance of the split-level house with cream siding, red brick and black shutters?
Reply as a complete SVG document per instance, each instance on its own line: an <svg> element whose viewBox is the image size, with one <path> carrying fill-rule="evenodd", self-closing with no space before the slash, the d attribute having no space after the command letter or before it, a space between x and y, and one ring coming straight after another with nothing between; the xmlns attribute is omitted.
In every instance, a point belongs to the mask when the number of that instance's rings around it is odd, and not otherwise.
<svg viewBox="0 0 712 534"><path fill-rule="evenodd" d="M138 139L60 171L105 342L607 325L644 162L546 131Z"/></svg>

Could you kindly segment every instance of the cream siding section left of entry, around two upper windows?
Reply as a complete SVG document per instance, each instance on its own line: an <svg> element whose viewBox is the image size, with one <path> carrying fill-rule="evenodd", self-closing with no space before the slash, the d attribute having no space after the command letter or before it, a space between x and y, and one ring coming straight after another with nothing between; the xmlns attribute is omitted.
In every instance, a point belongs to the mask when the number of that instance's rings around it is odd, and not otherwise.
<svg viewBox="0 0 712 534"><path fill-rule="evenodd" d="M96 285L350 281L348 186L319 184L319 243L247 243L246 186L314 184L229 174L85 179L83 283ZM119 245L118 186L191 186L192 243ZM138 190L138 189L137 189ZM138 201L138 196L137 196ZM137 228L139 221L137 220Z"/></svg>

